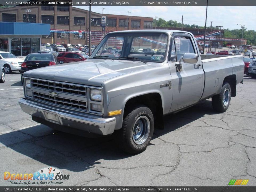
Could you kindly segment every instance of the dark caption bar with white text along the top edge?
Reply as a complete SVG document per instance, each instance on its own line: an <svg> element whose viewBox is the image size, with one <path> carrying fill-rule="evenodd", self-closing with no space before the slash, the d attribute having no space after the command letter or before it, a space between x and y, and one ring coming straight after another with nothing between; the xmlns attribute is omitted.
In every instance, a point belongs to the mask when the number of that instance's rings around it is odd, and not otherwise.
<svg viewBox="0 0 256 192"><path fill-rule="evenodd" d="M0 0L3 6L88 6L89 0ZM91 0L92 6L206 6L206 0ZM256 6L255 0L209 0L208 6Z"/></svg>

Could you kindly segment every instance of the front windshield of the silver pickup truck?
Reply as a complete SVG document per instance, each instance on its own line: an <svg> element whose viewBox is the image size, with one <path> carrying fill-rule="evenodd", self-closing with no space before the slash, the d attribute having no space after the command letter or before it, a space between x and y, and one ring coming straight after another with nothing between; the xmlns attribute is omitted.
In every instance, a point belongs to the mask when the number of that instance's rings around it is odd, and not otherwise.
<svg viewBox="0 0 256 192"><path fill-rule="evenodd" d="M146 62L163 62L166 57L168 36L165 33L114 33L108 34L95 48L91 58L131 59ZM116 53L116 47L122 50ZM135 60L134 60L135 61Z"/></svg>

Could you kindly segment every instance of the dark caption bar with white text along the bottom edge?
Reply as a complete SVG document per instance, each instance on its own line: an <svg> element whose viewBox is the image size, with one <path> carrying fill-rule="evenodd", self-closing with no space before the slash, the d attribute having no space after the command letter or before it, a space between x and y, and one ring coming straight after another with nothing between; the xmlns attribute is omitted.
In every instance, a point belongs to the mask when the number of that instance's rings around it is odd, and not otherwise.
<svg viewBox="0 0 256 192"><path fill-rule="evenodd" d="M67 192L84 192L84 191L95 191L95 192L119 192L119 191L130 191L130 192L149 192L149 191L196 191L196 192L255 192L256 187L246 186L231 186L231 187L0 187L0 191L67 191Z"/></svg>

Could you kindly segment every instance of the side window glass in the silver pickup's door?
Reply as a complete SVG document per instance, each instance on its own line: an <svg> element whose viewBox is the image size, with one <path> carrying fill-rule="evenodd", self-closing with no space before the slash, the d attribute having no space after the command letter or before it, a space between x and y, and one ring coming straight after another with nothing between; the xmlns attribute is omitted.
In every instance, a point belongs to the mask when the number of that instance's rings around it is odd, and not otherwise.
<svg viewBox="0 0 256 192"><path fill-rule="evenodd" d="M175 36L174 42L176 46L177 61L183 57L184 53L195 53L189 37Z"/></svg>

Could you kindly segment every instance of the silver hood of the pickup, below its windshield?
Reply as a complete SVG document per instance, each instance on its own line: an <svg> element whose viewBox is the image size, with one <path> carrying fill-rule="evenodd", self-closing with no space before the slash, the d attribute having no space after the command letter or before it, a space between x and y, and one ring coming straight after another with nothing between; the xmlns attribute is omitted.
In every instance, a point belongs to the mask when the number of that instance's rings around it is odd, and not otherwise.
<svg viewBox="0 0 256 192"><path fill-rule="evenodd" d="M101 87L107 79L151 67L137 61L89 59L30 70L23 76Z"/></svg>

